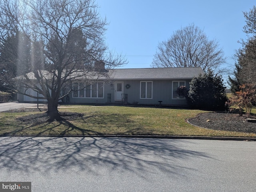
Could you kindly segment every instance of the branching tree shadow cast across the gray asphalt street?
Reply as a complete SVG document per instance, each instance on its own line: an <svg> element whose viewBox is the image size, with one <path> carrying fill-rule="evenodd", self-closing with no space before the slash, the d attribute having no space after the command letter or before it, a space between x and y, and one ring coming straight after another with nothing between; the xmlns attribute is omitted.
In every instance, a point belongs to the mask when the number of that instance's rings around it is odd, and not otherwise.
<svg viewBox="0 0 256 192"><path fill-rule="evenodd" d="M179 160L208 159L206 153L180 147L192 141L101 137L0 137L0 170L47 174L100 170L186 176L192 168Z"/></svg>

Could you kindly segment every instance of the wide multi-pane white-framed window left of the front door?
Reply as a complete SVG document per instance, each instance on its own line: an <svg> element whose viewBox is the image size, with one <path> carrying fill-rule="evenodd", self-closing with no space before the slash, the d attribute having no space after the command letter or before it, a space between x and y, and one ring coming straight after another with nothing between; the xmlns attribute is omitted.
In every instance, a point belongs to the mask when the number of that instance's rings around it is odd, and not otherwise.
<svg viewBox="0 0 256 192"><path fill-rule="evenodd" d="M84 83L74 82L73 88L74 98L103 98L104 95L103 82L96 82L88 86Z"/></svg>

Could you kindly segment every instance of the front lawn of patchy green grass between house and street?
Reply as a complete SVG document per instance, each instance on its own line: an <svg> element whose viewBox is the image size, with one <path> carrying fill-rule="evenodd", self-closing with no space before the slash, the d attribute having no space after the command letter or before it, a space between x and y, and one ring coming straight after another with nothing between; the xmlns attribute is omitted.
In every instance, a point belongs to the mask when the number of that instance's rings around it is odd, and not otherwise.
<svg viewBox="0 0 256 192"><path fill-rule="evenodd" d="M253 109L256 112L256 109ZM256 137L253 133L216 131L186 123L202 110L130 106L59 108L60 112L83 113L76 120L26 124L16 118L43 112L0 113L0 134L35 135L190 135Z"/></svg>

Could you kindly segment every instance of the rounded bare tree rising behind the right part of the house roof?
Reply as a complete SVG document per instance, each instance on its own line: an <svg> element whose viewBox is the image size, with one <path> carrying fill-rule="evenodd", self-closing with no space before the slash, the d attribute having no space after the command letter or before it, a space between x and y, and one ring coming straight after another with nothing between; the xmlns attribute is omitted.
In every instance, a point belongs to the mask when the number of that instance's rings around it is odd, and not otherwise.
<svg viewBox="0 0 256 192"><path fill-rule="evenodd" d="M226 58L218 41L209 40L199 27L191 24L158 44L152 67L202 67L204 72L217 74L224 63Z"/></svg>

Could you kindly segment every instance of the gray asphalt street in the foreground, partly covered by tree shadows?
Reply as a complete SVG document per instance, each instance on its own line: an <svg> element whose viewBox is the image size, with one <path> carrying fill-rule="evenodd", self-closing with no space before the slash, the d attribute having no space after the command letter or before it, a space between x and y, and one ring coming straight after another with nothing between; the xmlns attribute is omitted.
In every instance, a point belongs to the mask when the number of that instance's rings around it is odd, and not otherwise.
<svg viewBox="0 0 256 192"><path fill-rule="evenodd" d="M255 191L256 142L0 137L0 181L34 192Z"/></svg>

